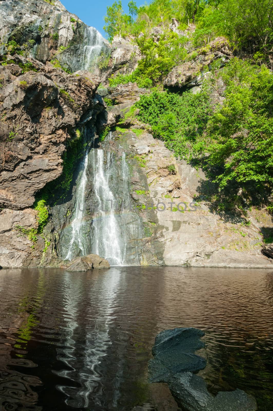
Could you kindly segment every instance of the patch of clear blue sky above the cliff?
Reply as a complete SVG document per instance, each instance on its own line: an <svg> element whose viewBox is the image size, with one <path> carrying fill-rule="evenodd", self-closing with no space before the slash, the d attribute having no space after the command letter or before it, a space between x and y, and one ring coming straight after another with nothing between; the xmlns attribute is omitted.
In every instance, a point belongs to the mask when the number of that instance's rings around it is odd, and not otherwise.
<svg viewBox="0 0 273 411"><path fill-rule="evenodd" d="M60 0L65 8L70 12L76 14L84 23L92 25L104 37L106 37L103 26L103 17L106 14L106 7L111 6L115 0ZM123 9L128 13L127 4L130 0L122 0ZM135 0L139 7L145 3L145 0ZM147 1L148 2L148 1Z"/></svg>

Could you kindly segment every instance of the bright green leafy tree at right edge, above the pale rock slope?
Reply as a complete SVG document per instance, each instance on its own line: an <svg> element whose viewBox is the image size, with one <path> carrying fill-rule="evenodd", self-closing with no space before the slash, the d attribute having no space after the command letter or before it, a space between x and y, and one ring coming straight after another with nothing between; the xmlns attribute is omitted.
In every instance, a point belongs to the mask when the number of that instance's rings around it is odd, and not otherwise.
<svg viewBox="0 0 273 411"><path fill-rule="evenodd" d="M273 75L237 58L222 71L225 100L208 122L208 163L220 187L235 180L273 185ZM220 169L219 169L220 167Z"/></svg>

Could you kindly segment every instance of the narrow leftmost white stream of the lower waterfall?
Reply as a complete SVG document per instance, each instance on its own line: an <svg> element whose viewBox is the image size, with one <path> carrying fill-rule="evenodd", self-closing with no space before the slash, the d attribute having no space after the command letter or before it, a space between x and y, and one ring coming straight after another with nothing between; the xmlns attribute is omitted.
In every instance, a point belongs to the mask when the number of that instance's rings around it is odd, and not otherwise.
<svg viewBox="0 0 273 411"><path fill-rule="evenodd" d="M84 242L81 236L81 227L83 224L83 210L84 210L84 202L85 202L85 187L86 187L86 181L87 181L87 175L86 175L86 170L88 166L88 150L86 150L83 162L81 164L81 178L79 181L79 184L76 188L76 210L73 215L73 220L72 220L72 235L71 235L71 240L67 252L67 256L65 257L65 260L71 260L72 259L72 253L73 253L73 245L76 242L79 249L81 249L82 255L85 255L85 247L84 247Z"/></svg>

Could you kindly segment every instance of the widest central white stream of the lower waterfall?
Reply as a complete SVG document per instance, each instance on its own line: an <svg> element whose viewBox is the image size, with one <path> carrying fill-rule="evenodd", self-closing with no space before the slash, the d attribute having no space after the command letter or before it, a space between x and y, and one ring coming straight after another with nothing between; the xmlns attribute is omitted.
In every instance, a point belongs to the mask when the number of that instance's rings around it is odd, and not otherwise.
<svg viewBox="0 0 273 411"><path fill-rule="evenodd" d="M104 166L103 150L92 150L91 154L94 171L94 195L97 199L97 212L93 220L95 231L93 252L106 258L113 266L123 266L124 253L121 251L123 240L115 216L115 197L109 185L113 157L108 151Z"/></svg>

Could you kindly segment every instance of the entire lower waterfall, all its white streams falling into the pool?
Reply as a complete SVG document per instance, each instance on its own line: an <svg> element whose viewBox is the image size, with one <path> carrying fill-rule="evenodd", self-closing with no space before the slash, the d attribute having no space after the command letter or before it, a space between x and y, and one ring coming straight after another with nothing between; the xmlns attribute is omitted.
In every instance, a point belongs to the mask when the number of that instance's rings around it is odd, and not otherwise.
<svg viewBox="0 0 273 411"><path fill-rule="evenodd" d="M98 254L107 259L111 266L126 265L126 245L128 236L122 232L123 219L120 218L120 205L130 202L130 170L122 152L120 163L116 164L116 153L109 150L111 132L106 137L104 148L86 150L80 164L79 177L75 190L75 207L67 228L68 248L62 250L64 260L76 256ZM86 185L91 180L93 219L86 218ZM119 193L117 190L119 187ZM120 194L121 193L121 194ZM120 198L122 195L122 198ZM123 210L125 212L125 210ZM127 223L132 233L140 237L141 222ZM130 239L133 234L129 234Z"/></svg>

